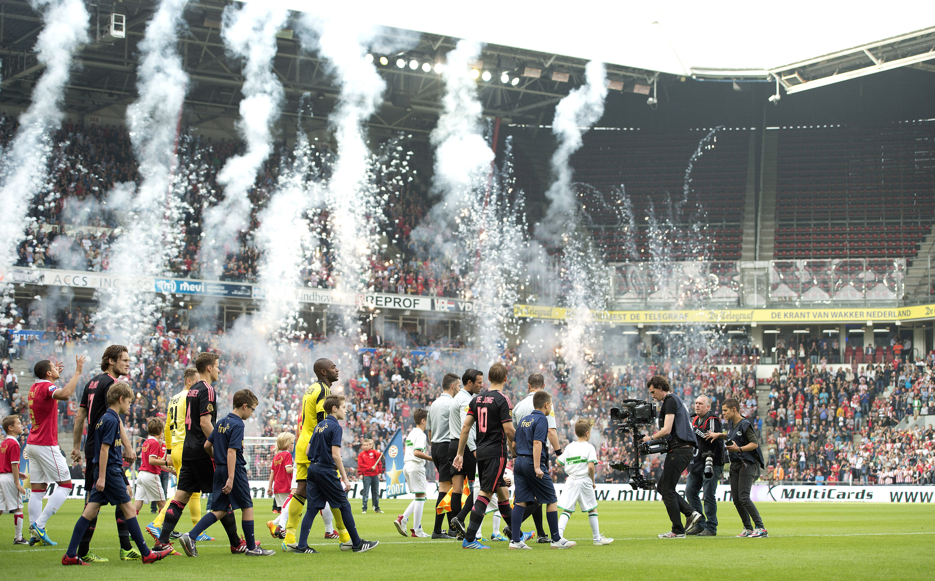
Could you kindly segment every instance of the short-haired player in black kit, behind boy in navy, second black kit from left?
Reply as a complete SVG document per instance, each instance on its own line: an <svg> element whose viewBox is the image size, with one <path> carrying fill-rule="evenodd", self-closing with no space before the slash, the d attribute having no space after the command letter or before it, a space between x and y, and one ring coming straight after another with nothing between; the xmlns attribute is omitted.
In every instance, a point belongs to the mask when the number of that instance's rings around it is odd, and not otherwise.
<svg viewBox="0 0 935 581"><path fill-rule="evenodd" d="M199 353L194 359L194 368L198 370L198 381L188 390L185 398L185 443L181 449L181 472L175 498L165 509L163 528L159 532L159 542L154 550L168 546L172 532L175 531L185 505L192 498L193 492L208 493L214 486L214 461L205 449L205 443L218 418L218 401L213 383L220 375L220 361L217 353ZM246 544L240 542L237 535L237 520L232 513L221 518L224 531L231 544L231 552L242 553ZM198 538L196 540L202 540Z"/></svg>

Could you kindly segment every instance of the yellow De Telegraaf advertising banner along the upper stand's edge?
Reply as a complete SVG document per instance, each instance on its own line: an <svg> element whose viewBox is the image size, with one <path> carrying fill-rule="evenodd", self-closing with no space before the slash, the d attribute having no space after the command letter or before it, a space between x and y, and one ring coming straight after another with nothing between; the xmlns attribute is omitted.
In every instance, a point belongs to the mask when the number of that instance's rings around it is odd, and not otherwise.
<svg viewBox="0 0 935 581"><path fill-rule="evenodd" d="M526 319L573 319L575 311L559 306L513 305L513 315ZM591 311L593 319L608 323L864 323L935 319L935 305L892 308L736 308L670 311Z"/></svg>

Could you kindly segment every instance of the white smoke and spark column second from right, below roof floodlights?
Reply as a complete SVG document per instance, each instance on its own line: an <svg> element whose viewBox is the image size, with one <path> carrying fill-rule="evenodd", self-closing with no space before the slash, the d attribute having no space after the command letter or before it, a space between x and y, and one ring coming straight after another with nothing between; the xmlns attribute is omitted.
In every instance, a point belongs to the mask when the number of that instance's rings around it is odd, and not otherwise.
<svg viewBox="0 0 935 581"><path fill-rule="evenodd" d="M455 232L453 261L469 271L473 333L484 365L499 358L507 332L514 331L512 304L526 272L520 262L528 245L522 196L512 193L507 163L496 171L494 151L483 136L483 106L468 65L480 52L480 44L461 40L446 55L442 113L431 134L436 148L433 190L442 199L429 221L436 232ZM415 235L427 237L430 227L420 227Z"/></svg>

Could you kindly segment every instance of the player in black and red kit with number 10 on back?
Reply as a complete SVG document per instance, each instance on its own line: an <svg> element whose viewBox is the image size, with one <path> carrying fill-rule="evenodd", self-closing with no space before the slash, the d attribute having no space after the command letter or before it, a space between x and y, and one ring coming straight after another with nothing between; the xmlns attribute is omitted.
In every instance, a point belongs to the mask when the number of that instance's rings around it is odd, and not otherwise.
<svg viewBox="0 0 935 581"><path fill-rule="evenodd" d="M480 475L481 492L477 495L474 508L470 512L470 522L465 531L458 531L465 535L461 544L464 548L489 548L483 546L475 539L477 531L481 528L483 515L487 512L496 490L498 498L497 508L500 516L507 522L511 521L510 490L503 480L503 471L507 467L507 458L513 441L513 421L511 411L513 404L510 398L503 394L503 384L507 380L507 366L497 361L487 372L490 380L490 389L474 396L468 404L468 416L461 428L461 437L458 440L458 452L452 461L453 466L460 470L464 465L465 446L468 445L468 434L471 426L477 424L477 445L474 455L477 458L477 471ZM454 525L454 519L452 524Z"/></svg>

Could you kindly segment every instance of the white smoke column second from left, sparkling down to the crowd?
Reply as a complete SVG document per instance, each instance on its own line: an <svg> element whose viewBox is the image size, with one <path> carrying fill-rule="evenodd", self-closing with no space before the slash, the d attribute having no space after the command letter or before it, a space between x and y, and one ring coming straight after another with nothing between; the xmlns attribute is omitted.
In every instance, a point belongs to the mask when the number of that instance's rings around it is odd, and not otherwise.
<svg viewBox="0 0 935 581"><path fill-rule="evenodd" d="M180 200L174 195L173 181L180 115L188 91L188 75L177 50L187 1L163 0L139 43L139 97L127 107L127 122L137 153L140 184L137 191L130 189L131 184L123 184L110 195L111 208L128 212L112 250L113 256L120 258L112 261L109 269L124 279L163 276L184 237L179 231ZM97 318L110 333L125 334L127 344L135 345L164 306L159 295L151 291L140 292L135 285L103 291L105 300Z"/></svg>

